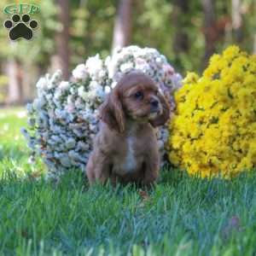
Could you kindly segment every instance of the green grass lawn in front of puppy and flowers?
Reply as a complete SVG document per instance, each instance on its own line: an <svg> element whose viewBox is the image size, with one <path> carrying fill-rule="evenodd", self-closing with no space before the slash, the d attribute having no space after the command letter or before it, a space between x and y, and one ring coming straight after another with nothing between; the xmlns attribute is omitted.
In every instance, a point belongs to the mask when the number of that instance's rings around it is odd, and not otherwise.
<svg viewBox="0 0 256 256"><path fill-rule="evenodd" d="M0 110L0 255L255 255L256 175L200 180L166 167L158 185L35 178L20 109ZM22 115L21 115L22 116ZM25 175L27 174L27 175Z"/></svg>

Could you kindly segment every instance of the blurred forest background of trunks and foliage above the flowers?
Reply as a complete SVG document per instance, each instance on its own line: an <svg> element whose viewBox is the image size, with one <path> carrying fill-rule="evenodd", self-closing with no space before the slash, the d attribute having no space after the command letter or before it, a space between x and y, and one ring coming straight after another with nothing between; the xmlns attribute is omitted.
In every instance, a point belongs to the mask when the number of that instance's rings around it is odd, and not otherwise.
<svg viewBox="0 0 256 256"><path fill-rule="evenodd" d="M1 0L0 8L15 1ZM16 1L16 3L18 3ZM20 2L19 2L20 3ZM30 3L26 1L26 3ZM183 75L201 72L227 45L256 53L256 0L35 0L32 41L0 28L0 106L32 100L44 73L72 69L116 46L154 47ZM1 14L0 22L8 19Z"/></svg>

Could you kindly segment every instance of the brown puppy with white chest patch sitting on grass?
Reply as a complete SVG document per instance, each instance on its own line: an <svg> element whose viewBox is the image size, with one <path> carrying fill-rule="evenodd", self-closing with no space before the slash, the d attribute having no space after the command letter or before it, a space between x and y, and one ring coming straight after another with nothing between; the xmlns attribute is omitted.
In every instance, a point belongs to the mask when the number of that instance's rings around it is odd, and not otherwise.
<svg viewBox="0 0 256 256"><path fill-rule="evenodd" d="M154 81L138 72L125 74L100 107L100 131L86 166L90 183L154 183L160 155L154 128L170 116Z"/></svg>

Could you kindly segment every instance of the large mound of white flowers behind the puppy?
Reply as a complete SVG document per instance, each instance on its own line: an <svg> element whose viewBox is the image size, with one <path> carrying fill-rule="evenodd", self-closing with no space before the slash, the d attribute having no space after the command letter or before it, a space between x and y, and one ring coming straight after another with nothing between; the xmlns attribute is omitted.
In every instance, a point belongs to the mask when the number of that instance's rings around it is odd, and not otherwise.
<svg viewBox="0 0 256 256"><path fill-rule="evenodd" d="M22 132L32 156L41 156L48 166L49 176L59 177L72 167L84 171L98 131L97 109L122 74L134 69L154 79L173 107L172 92L182 78L156 49L117 49L105 61L96 55L79 64L70 81L61 80L61 71L38 80L38 97L27 106L29 128ZM160 128L162 154L167 137L166 127Z"/></svg>

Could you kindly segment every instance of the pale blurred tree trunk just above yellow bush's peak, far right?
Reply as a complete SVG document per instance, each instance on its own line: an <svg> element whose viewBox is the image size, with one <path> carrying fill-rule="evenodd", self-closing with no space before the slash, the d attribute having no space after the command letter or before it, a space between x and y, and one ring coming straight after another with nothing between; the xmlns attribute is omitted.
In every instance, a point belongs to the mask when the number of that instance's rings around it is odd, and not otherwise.
<svg viewBox="0 0 256 256"><path fill-rule="evenodd" d="M235 33L236 42L242 40L242 18L241 18L241 0L232 0L232 28Z"/></svg>

